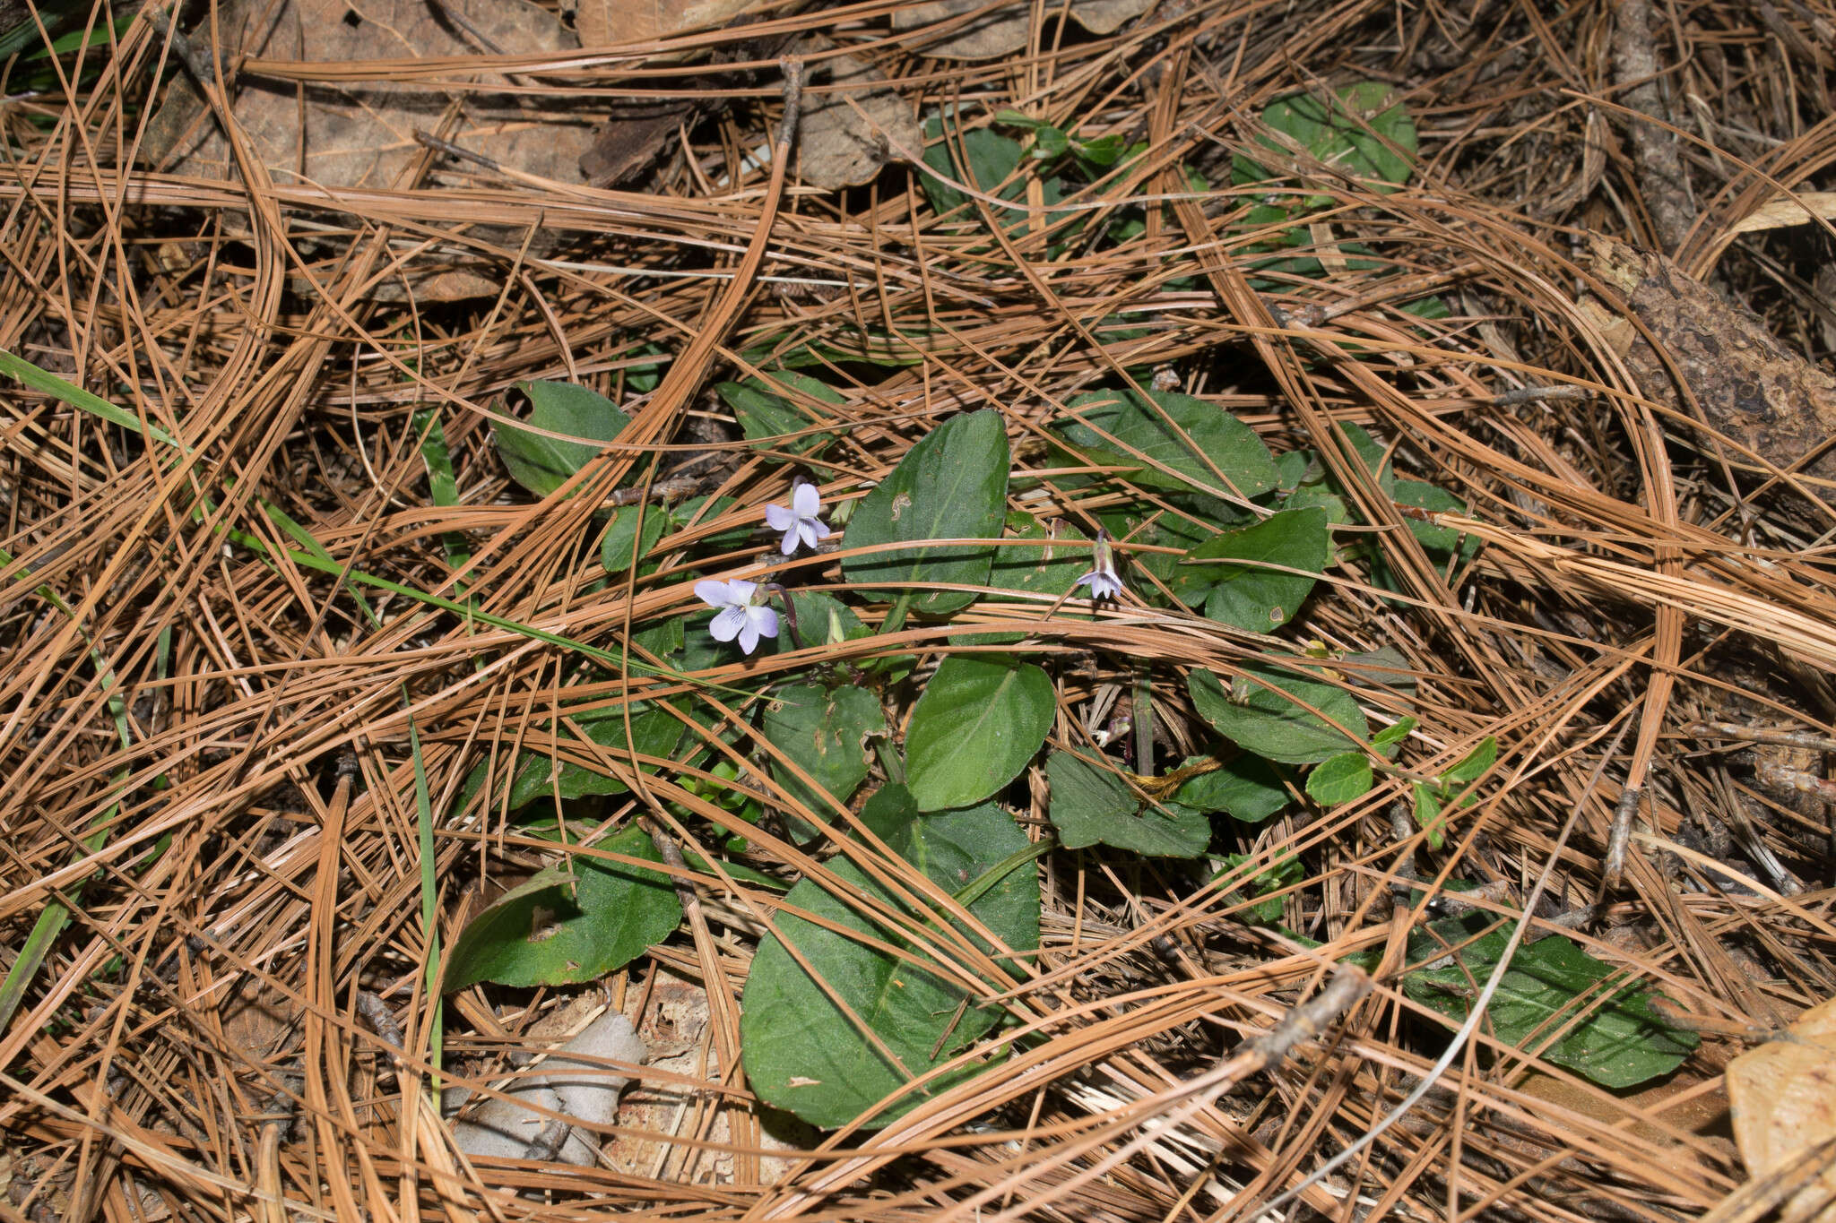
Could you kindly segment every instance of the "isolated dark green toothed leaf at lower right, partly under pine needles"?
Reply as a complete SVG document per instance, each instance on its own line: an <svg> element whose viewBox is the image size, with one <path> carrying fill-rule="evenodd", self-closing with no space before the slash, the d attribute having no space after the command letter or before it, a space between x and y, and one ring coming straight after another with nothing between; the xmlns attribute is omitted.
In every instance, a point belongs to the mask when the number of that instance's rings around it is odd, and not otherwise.
<svg viewBox="0 0 1836 1223"><path fill-rule="evenodd" d="M1509 924L1487 913L1461 913L1430 922L1408 942L1410 963L1432 963L1445 955L1445 948L1474 935L1480 937L1463 946L1450 966L1403 977L1403 990L1412 999L1447 1016L1452 1025L1465 1021L1472 997L1498 966L1509 942ZM1511 957L1485 1016L1506 1045L1540 1049L1544 1060L1603 1087L1636 1087L1682 1065L1698 1038L1671 1027L1652 1010L1652 996L1641 986L1614 990L1601 1001L1603 986L1621 975L1561 935L1540 939ZM1583 1010L1584 1018L1575 1021ZM1566 1034L1544 1047L1564 1027Z"/></svg>

